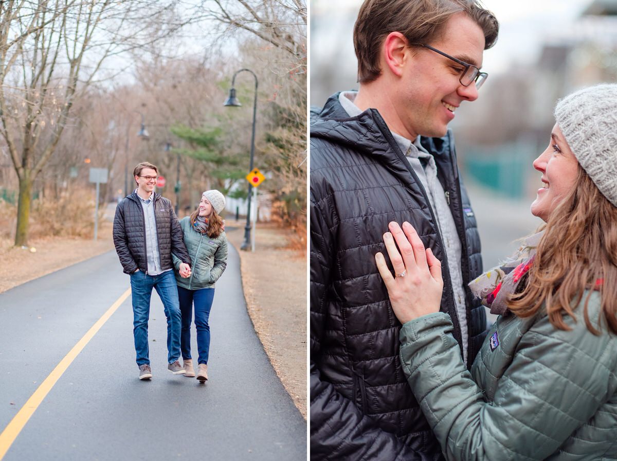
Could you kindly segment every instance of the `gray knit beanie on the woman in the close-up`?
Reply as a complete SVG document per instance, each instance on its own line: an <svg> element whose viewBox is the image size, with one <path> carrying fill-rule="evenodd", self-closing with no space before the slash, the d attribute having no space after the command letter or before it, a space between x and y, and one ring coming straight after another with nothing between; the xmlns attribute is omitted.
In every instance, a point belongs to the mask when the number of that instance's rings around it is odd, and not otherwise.
<svg viewBox="0 0 617 461"><path fill-rule="evenodd" d="M617 85L569 94L557 102L555 121L583 170L617 206Z"/></svg>

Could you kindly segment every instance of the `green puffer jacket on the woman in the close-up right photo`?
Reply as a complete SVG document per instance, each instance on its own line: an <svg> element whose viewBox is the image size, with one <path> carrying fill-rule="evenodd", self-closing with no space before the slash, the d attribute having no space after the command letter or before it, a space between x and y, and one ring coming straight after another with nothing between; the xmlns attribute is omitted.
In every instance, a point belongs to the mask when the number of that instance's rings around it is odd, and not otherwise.
<svg viewBox="0 0 617 461"><path fill-rule="evenodd" d="M500 317L471 373L447 314L403 325L403 369L448 460L617 459L617 336L590 333L582 304L570 331L545 312ZM594 326L599 312L594 292Z"/></svg>

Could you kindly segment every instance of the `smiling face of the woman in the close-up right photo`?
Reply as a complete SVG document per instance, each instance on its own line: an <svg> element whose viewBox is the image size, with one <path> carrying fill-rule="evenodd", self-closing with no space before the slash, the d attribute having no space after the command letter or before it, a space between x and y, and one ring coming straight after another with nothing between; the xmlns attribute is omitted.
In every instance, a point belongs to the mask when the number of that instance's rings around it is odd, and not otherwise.
<svg viewBox="0 0 617 461"><path fill-rule="evenodd" d="M549 147L533 165L542 173L543 187L538 189L536 200L531 204L531 214L547 222L551 212L574 187L579 168L557 123L550 133Z"/></svg>

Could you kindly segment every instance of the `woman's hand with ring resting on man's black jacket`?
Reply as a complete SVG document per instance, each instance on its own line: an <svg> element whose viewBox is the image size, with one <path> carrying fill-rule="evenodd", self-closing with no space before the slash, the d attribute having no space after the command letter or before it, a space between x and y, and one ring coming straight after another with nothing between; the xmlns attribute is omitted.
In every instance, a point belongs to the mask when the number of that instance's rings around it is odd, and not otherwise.
<svg viewBox="0 0 617 461"><path fill-rule="evenodd" d="M439 312L444 289L441 262L430 248L424 249L420 236L410 223L404 222L401 230L397 223L391 222L388 228L390 232L384 234L384 244L395 276L392 276L387 267L383 254L376 254L375 261L386 284L394 314L400 323L405 323ZM394 241L399 246L400 253Z"/></svg>

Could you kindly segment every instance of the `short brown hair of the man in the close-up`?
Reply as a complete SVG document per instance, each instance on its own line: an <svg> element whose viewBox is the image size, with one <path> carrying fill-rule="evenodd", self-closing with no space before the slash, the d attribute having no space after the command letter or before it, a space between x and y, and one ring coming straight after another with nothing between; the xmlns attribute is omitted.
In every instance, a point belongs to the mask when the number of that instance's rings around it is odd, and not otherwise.
<svg viewBox="0 0 617 461"><path fill-rule="evenodd" d="M402 33L410 44L429 44L447 20L464 12L484 33L484 49L497 41L499 22L478 0L365 0L354 26L358 81L366 83L381 74L379 51L391 32Z"/></svg>

